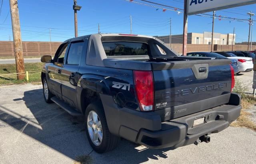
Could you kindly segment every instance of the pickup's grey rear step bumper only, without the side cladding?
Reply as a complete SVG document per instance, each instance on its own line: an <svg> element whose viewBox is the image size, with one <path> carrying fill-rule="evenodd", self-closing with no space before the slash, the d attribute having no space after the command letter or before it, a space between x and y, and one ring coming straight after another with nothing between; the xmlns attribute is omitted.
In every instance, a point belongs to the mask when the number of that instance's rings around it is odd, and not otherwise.
<svg viewBox="0 0 256 164"><path fill-rule="evenodd" d="M209 109L162 123L159 131L140 130L137 142L148 148L181 147L193 144L200 136L218 133L240 115L241 106L224 106L226 109ZM207 123L192 128L194 120L204 118ZM221 119L219 119L221 118Z"/></svg>

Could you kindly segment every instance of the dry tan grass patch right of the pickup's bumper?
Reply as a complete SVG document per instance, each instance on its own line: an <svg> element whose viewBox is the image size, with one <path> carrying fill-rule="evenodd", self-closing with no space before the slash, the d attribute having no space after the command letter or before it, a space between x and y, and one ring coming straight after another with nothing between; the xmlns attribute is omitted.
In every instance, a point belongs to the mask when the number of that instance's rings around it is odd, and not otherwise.
<svg viewBox="0 0 256 164"><path fill-rule="evenodd" d="M238 117L238 119L230 125L236 126L236 127L246 127L256 131L256 124L250 120L250 116L252 114L246 111L252 105L255 105L255 104L256 104L256 100L252 96L246 95L242 99L241 105L243 109L241 110L240 117Z"/></svg>

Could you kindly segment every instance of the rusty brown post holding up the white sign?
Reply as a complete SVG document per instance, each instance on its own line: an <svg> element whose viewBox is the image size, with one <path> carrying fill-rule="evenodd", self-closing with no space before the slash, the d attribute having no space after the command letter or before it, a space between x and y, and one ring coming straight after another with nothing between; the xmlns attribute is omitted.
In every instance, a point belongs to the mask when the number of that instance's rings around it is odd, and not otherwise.
<svg viewBox="0 0 256 164"><path fill-rule="evenodd" d="M187 55L187 40L188 40L188 14L187 14L187 0L184 0L184 18L183 18L183 47L182 54Z"/></svg>

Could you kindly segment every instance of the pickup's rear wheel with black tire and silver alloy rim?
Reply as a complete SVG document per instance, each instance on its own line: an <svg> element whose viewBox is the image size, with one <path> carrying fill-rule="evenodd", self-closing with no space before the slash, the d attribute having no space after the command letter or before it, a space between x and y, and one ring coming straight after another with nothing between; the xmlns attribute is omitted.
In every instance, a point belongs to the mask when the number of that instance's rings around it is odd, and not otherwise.
<svg viewBox="0 0 256 164"><path fill-rule="evenodd" d="M95 113L97 116L95 115ZM97 118L94 117L94 119L92 119L93 115ZM86 108L85 129L90 145L92 146L93 150L98 153L104 153L113 150L114 148L116 148L120 140L118 136L114 136L109 132L104 109L101 102L91 103ZM94 134L97 135L98 138L97 136L94 137ZM102 138L101 141L100 138Z"/></svg>

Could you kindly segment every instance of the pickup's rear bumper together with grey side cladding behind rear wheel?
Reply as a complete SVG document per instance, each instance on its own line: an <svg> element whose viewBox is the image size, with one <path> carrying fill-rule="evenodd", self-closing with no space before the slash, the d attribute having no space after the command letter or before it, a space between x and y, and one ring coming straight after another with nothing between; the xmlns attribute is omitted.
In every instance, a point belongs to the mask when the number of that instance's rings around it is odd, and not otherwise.
<svg viewBox="0 0 256 164"><path fill-rule="evenodd" d="M193 144L200 136L227 128L239 117L242 109L239 95L231 94L226 105L161 123L160 116L154 112L118 108L112 97L100 96L110 132L148 148ZM194 120L200 118L205 118L206 123L192 128Z"/></svg>

